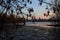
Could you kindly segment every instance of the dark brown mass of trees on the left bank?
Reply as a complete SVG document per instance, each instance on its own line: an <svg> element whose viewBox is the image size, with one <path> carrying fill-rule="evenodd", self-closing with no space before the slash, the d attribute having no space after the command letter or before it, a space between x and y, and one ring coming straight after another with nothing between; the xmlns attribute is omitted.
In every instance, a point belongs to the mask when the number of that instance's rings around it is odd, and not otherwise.
<svg viewBox="0 0 60 40"><path fill-rule="evenodd" d="M0 13L0 23L21 23L25 20L25 18L17 17L17 15L10 14L6 15Z"/></svg>

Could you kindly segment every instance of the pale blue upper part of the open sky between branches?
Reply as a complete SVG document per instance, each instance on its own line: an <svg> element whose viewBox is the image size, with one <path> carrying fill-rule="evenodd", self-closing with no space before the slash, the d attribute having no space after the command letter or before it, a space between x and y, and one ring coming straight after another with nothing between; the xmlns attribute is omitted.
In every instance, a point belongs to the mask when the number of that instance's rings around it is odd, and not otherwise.
<svg viewBox="0 0 60 40"><path fill-rule="evenodd" d="M51 0L46 0L46 2L50 3ZM34 12L33 12L33 13L34 13L34 14L46 12L46 9L45 9L45 8L46 8L46 4L43 3L43 5L40 6L38 0L32 0L32 4L27 4L27 7L33 7L33 9L34 9ZM24 11L25 13L28 13L28 12L26 11L26 9L24 9L23 11Z"/></svg>

